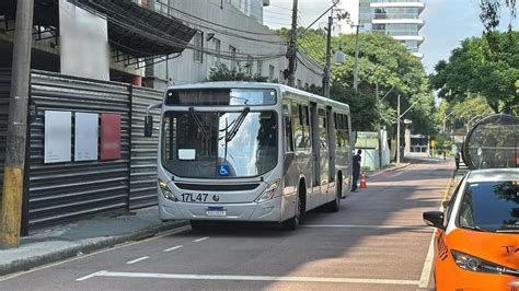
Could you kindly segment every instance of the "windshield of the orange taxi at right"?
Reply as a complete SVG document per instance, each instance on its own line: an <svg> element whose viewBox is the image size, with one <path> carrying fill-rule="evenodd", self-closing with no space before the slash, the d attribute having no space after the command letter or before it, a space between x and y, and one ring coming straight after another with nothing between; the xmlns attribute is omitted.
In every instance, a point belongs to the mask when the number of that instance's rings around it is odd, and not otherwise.
<svg viewBox="0 0 519 291"><path fill-rule="evenodd" d="M459 223L480 231L519 231L519 182L469 183Z"/></svg>

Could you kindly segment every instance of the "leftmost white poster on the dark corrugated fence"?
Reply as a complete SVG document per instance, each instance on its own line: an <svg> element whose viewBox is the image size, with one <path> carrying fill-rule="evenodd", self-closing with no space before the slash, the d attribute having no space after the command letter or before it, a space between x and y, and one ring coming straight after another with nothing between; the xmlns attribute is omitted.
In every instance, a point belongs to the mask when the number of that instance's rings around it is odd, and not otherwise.
<svg viewBox="0 0 519 291"><path fill-rule="evenodd" d="M70 162L71 139L72 114L46 110L44 163Z"/></svg>

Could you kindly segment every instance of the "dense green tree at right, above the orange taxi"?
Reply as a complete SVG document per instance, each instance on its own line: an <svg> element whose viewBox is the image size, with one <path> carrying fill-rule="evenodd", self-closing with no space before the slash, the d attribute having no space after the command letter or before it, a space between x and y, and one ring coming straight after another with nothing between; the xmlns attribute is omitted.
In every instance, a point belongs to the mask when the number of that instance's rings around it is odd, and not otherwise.
<svg viewBox="0 0 519 291"><path fill-rule="evenodd" d="M494 49L486 37L472 37L452 50L449 61L439 61L430 77L438 95L449 102L483 96L495 113L512 112L519 104L519 33L492 32Z"/></svg>

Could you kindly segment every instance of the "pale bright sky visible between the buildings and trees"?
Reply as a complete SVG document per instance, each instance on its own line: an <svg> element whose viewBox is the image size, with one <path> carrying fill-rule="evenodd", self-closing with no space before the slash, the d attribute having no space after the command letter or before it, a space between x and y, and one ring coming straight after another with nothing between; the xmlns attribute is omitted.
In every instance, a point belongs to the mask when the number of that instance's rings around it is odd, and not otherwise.
<svg viewBox="0 0 519 291"><path fill-rule="evenodd" d="M342 2L350 0L342 0ZM426 4L420 19L425 21L419 35L425 37L419 51L424 54L422 62L427 73L434 72L435 65L445 59L460 46L461 40L481 36L483 25L480 21L480 0L422 0ZM326 9L332 5L331 0L299 0L298 10L301 23L310 25ZM269 27L290 26L292 0L270 0L270 5L264 10L264 22ZM501 13L499 30L506 30L509 24L508 10ZM322 18L313 28L323 26L326 18ZM519 20L512 22L515 30L519 27Z"/></svg>

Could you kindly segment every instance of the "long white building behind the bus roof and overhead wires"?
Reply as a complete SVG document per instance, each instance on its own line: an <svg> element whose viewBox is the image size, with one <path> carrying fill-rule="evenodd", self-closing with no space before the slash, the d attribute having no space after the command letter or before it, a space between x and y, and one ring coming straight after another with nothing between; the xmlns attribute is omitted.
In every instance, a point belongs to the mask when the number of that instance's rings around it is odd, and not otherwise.
<svg viewBox="0 0 519 291"><path fill-rule="evenodd" d="M155 0L148 5L198 31L182 55L147 67L148 86L205 81L218 63L286 83L287 42L262 25L267 0ZM307 66L298 66L296 86L320 86L323 68L299 57Z"/></svg>

